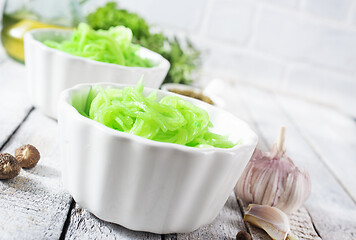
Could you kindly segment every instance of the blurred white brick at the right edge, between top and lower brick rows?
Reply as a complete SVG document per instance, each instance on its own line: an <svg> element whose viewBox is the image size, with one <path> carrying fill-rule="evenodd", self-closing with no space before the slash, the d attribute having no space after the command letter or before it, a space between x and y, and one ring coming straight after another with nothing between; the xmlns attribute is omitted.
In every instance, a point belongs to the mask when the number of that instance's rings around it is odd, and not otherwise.
<svg viewBox="0 0 356 240"><path fill-rule="evenodd" d="M356 69L354 30L328 26L300 12L265 8L255 34L255 47L260 51L348 73Z"/></svg>

